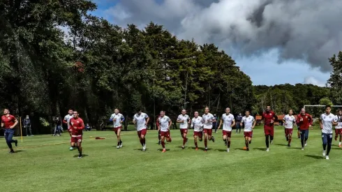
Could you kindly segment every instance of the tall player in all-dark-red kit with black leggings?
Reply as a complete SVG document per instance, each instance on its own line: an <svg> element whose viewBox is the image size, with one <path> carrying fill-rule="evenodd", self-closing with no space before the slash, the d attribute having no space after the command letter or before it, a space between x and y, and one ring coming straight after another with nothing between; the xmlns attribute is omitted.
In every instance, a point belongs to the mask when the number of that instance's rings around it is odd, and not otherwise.
<svg viewBox="0 0 342 192"><path fill-rule="evenodd" d="M274 137L274 121L278 120L276 114L271 110L271 106L266 107L266 111L262 113L262 119L264 120L264 132L266 142L266 152L269 152L269 140L273 143Z"/></svg>

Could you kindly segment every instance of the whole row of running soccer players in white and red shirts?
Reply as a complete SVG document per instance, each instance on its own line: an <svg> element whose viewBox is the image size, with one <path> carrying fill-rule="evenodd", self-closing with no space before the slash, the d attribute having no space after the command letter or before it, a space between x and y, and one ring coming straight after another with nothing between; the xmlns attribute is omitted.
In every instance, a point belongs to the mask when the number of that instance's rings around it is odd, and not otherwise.
<svg viewBox="0 0 342 192"><path fill-rule="evenodd" d="M78 112L76 110L68 110L68 115L64 117L64 124L68 125L68 132L70 133L70 150L77 148L79 152L78 158L82 158L82 131L84 129L84 121L78 117ZM271 110L270 106L267 106L265 112L262 113L262 120L264 121L264 132L265 132L265 144L266 151L269 152L269 143L273 143L274 139L274 122L278 121L278 117ZM124 115L119 113L118 109L114 110L114 113L110 116L110 121L113 122L114 132L117 135L117 148L122 147L121 141L121 128L122 123L125 121ZM215 138L212 135L213 123L216 122L216 118L209 112L209 108L205 108L205 113L200 117L197 111L194 112L193 119L190 119L186 115L186 110L181 110L181 115L177 117L177 123L179 123L179 128L181 132L181 137L183 138L181 148L184 149L186 143L188 142L187 133L188 126L193 128L193 139L195 144L195 150L198 150L198 140L205 140L205 152L208 150L208 140L215 142ZM285 138L288 141L288 147L290 147L292 141L292 130L293 126L297 124L300 131L300 138L302 144L302 150L307 145L308 140L308 129L313 124L313 118L311 115L305 112L303 108L297 118L293 115L292 110L289 111L288 115L283 118L285 127ZM142 151L146 151L146 139L147 134L147 124L149 123L149 116L139 110L133 117L133 124L137 130L137 135L142 145ZM222 115L218 129L223 130L223 142L227 146L227 152L230 152L230 142L232 136L232 127L239 122L235 121L234 115L230 113L230 108L225 109L225 113ZM249 110L245 111L245 116L242 117L240 126L244 126L244 140L246 145L246 151L249 151L249 145L252 142L253 128L255 127L256 121ZM14 153L12 142L15 142L17 146L17 140L13 140L13 128L17 125L17 119L13 115L9 114L9 110L3 110L3 116L1 117L1 127L5 128L5 138L10 153ZM166 152L165 140L166 142L171 142L170 136L170 126L172 121L170 117L165 115L165 111L160 112L160 116L156 121L158 127L158 137L159 143L162 145L162 152ZM329 152L332 147L333 138L333 126L335 127L335 140L339 138L339 146L341 147L341 135L342 135L342 110L338 111L338 115L333 115L331 113L330 105L325 107L325 113L320 116L320 128L322 130L322 142L323 142L323 152L322 155L329 159Z"/></svg>

